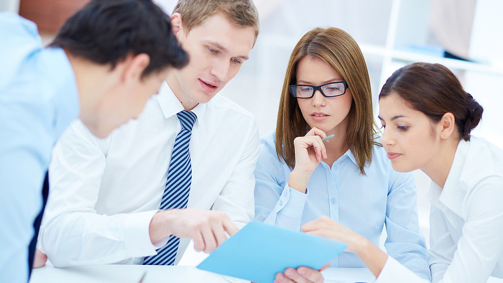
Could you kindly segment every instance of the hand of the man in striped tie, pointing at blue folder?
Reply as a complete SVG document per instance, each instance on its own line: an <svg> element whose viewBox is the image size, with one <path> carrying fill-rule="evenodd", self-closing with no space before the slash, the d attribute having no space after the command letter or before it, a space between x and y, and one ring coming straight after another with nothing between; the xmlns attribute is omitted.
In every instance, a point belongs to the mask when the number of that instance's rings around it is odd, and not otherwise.
<svg viewBox="0 0 503 283"><path fill-rule="evenodd" d="M189 208L161 210L154 215L149 227L152 243L169 235L192 238L194 249L205 253L227 240L225 232L232 236L238 230L224 212Z"/></svg>

